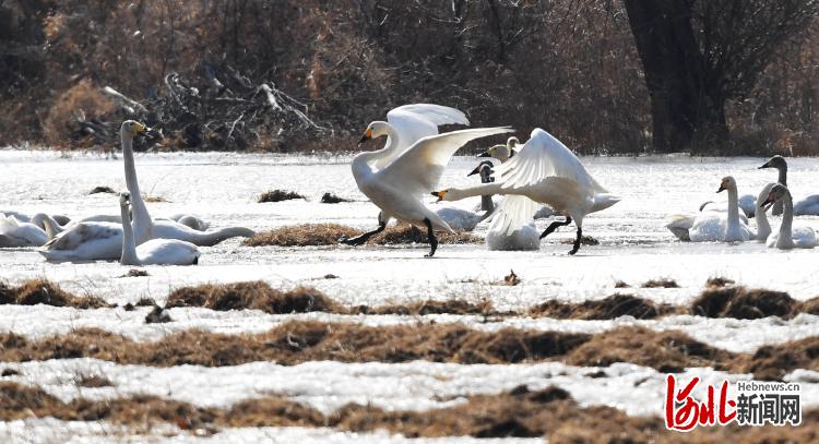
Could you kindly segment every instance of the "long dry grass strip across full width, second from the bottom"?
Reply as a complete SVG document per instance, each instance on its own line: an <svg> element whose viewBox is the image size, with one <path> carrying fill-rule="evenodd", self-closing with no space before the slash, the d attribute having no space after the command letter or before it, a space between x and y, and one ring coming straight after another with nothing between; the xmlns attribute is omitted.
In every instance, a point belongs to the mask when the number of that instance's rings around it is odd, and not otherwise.
<svg viewBox="0 0 819 444"><path fill-rule="evenodd" d="M238 365L275 361L517 363L560 360L607 367L630 362L661 372L713 367L780 380L795 369L819 370L819 337L734 353L680 332L621 327L601 334L522 331L483 332L461 324L369 327L347 323L288 322L262 334L226 335L189 329L155 343L134 343L97 328L29 340L0 334L0 361L95 358L121 364Z"/></svg>

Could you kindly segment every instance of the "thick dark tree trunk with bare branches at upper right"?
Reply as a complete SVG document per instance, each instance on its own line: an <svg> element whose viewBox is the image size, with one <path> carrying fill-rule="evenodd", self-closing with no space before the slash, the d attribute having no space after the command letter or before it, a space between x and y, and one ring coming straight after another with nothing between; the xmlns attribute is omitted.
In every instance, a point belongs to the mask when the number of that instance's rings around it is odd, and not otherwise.
<svg viewBox="0 0 819 444"><path fill-rule="evenodd" d="M816 19L818 0L624 0L651 96L653 147L702 151L728 139L725 101Z"/></svg>

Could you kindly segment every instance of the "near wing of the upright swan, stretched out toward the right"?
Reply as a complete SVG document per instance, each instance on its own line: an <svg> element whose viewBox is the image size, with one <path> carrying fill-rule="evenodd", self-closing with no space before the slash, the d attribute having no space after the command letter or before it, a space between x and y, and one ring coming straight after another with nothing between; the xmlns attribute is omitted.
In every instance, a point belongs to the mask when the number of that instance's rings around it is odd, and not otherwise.
<svg viewBox="0 0 819 444"><path fill-rule="evenodd" d="M443 169L460 147L474 139L513 131L508 127L475 128L424 137L377 175L408 194L427 194L438 185Z"/></svg>

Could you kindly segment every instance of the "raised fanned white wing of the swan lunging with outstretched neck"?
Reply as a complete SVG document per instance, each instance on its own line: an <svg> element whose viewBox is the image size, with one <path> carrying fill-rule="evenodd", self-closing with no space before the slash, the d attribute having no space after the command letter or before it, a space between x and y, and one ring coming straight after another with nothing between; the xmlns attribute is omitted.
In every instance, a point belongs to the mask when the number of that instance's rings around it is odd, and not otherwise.
<svg viewBox="0 0 819 444"><path fill-rule="evenodd" d="M495 173L501 178L505 189L533 185L556 177L575 182L590 196L607 192L586 172L571 149L539 128L532 131L523 148L498 166Z"/></svg>

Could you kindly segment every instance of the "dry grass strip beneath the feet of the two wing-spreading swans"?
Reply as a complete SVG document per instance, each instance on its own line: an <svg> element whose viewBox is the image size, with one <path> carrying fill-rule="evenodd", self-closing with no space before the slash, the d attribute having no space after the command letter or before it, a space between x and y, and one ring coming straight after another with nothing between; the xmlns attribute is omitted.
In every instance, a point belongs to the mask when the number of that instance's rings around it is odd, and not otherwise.
<svg viewBox="0 0 819 444"><path fill-rule="evenodd" d="M412 226L401 224L388 227L382 232L371 237L367 244L394 245L411 243L427 243L426 230L413 230ZM260 232L246 239L242 244L248 247L311 247L336 245L341 238L353 238L361 231L353 227L339 224L301 224L281 227ZM483 243L483 239L470 232L436 233L440 243Z"/></svg>

